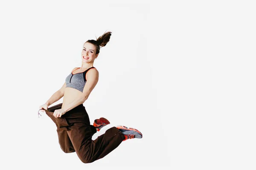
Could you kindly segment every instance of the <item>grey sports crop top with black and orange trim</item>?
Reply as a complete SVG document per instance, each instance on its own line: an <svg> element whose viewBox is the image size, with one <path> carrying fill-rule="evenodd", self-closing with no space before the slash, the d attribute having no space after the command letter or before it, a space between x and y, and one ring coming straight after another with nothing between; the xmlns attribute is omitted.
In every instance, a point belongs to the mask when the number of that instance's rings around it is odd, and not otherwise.
<svg viewBox="0 0 256 170"><path fill-rule="evenodd" d="M95 68L95 67L91 67L91 68ZM87 81L85 75L86 75L87 71L90 70L91 68L88 68L86 71L81 72L81 73L72 74L72 72L71 72L66 78L66 87L75 88L75 89L83 92L84 85Z"/></svg>

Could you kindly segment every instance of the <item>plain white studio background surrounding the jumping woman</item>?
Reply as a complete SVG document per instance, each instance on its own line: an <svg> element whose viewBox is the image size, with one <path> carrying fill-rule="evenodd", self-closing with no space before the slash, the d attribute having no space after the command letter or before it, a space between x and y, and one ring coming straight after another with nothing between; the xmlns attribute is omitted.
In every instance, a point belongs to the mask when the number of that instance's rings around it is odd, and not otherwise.
<svg viewBox="0 0 256 170"><path fill-rule="evenodd" d="M166 2L0 3L0 169L256 169L253 0ZM116 125L143 138L84 164L37 112L81 66L84 42L105 31L112 36L84 106L91 123L111 124L93 139Z"/></svg>

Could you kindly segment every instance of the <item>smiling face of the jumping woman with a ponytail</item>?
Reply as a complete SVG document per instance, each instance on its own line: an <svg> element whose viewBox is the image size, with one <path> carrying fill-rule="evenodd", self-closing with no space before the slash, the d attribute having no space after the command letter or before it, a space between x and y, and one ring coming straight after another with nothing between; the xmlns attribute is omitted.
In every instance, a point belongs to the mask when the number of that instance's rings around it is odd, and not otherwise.
<svg viewBox="0 0 256 170"><path fill-rule="evenodd" d="M82 62L91 63L98 57L99 54L96 54L96 46L90 42L84 43L84 47L81 53Z"/></svg>

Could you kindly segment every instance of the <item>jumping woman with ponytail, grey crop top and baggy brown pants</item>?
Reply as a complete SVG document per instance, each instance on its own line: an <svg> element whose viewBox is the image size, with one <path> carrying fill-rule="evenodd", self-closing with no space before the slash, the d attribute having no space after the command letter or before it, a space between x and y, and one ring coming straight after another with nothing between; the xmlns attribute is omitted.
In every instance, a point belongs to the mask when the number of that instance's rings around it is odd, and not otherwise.
<svg viewBox="0 0 256 170"><path fill-rule="evenodd" d="M76 152L84 163L103 158L118 147L122 141L142 138L142 133L139 130L118 125L111 127L97 139L92 140L93 134L110 122L105 118L100 118L90 125L89 116L83 103L98 82L99 72L93 67L93 62L99 55L100 47L104 47L109 42L110 36L111 32L107 32L97 40L87 40L81 53L81 67L74 68L61 89L39 107L39 111L45 111L56 124L61 149L65 153ZM63 103L48 108L62 96Z"/></svg>

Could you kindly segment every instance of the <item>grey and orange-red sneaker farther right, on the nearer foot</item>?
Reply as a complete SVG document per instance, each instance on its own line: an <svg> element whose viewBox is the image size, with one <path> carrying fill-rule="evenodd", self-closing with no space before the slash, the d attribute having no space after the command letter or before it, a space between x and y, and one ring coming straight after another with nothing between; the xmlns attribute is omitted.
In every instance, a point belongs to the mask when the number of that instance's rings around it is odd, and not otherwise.
<svg viewBox="0 0 256 170"><path fill-rule="evenodd" d="M116 128L119 129L122 132L122 134L125 135L125 139L123 141L133 138L142 138L142 133L137 129L122 125L117 125Z"/></svg>

